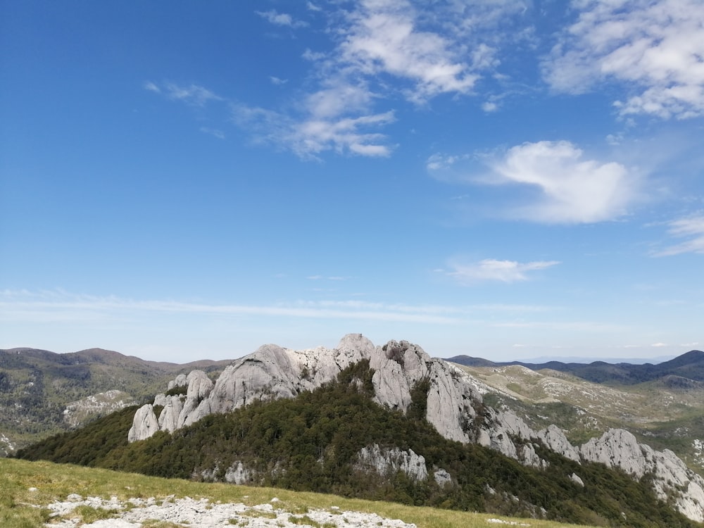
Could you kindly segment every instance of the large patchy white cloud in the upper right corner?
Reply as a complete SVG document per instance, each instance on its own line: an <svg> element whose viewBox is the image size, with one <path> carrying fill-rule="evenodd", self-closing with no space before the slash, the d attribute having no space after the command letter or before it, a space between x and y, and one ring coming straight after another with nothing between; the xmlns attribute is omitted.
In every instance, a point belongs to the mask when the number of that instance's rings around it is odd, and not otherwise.
<svg viewBox="0 0 704 528"><path fill-rule="evenodd" d="M622 82L622 115L690 118L704 113L704 4L700 0L582 0L543 74L553 89L589 92Z"/></svg>

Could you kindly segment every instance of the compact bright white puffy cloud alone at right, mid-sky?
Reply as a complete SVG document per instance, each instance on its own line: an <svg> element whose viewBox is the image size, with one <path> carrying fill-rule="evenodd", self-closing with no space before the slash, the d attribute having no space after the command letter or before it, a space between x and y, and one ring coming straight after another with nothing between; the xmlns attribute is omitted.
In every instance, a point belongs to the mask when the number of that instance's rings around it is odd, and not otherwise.
<svg viewBox="0 0 704 528"><path fill-rule="evenodd" d="M547 223L589 223L616 218L636 196L636 178L615 162L584 159L570 142L524 143L491 164L491 182L539 189L536 203L511 212Z"/></svg>

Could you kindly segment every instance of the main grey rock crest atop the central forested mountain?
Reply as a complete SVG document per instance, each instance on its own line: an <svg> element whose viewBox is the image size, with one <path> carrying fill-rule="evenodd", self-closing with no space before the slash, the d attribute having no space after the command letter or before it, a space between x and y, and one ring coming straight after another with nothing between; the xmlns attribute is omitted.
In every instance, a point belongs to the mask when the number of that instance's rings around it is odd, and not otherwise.
<svg viewBox="0 0 704 528"><path fill-rule="evenodd" d="M149 438L157 430L172 431L190 425L210 413L227 413L254 400L293 398L301 391L332 381L341 370L360 360L369 360L374 370L372 384L377 403L406 411L413 387L427 380L427 420L446 438L474 441L477 432L471 427L476 414L473 405L481 401L481 395L468 382L470 377L465 372L430 358L420 346L408 341L375 346L361 334L348 334L332 349L294 351L271 344L261 346L226 367L212 385L203 372L194 370L187 379L180 377L169 384L171 388L187 385L185 399L164 394L156 397L154 404L163 406L163 410L158 417L153 415L150 427L141 425L149 413L148 406L140 410L139 417L135 415L130 441ZM153 422L157 423L156 429Z"/></svg>

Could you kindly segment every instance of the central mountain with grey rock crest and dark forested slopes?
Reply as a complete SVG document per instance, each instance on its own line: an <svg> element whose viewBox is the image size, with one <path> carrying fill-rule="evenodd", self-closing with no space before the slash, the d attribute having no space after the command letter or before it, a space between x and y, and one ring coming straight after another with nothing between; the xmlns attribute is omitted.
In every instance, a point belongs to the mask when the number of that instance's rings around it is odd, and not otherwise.
<svg viewBox="0 0 704 528"><path fill-rule="evenodd" d="M573 446L559 427L536 431L490 406L488 393L407 341L265 345L214 383L194 370L136 412L18 455L590 524L704 520L704 479L671 451L623 429Z"/></svg>

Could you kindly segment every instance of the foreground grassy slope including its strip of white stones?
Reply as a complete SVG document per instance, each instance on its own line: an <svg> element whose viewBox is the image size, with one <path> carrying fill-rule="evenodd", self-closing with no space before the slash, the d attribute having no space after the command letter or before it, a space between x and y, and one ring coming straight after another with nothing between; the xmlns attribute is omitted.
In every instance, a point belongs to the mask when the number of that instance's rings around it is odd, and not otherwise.
<svg viewBox="0 0 704 528"><path fill-rule="evenodd" d="M90 498L85 496L86 490L90 490ZM74 525L84 522L86 527L96 526L89 524L93 522L104 527L106 522L123 520L143 523L145 528L487 528L526 524L482 513L0 459L0 526L26 528L71 520ZM567 528L563 522L542 520L531 520L530 526Z"/></svg>

